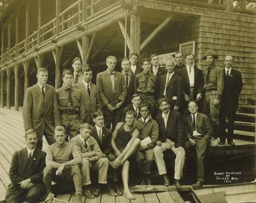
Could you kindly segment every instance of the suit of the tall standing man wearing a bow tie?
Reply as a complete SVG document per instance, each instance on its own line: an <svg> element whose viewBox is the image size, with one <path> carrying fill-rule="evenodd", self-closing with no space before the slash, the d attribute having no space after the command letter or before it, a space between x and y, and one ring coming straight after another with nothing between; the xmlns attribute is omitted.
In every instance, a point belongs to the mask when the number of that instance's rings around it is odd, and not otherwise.
<svg viewBox="0 0 256 203"><path fill-rule="evenodd" d="M122 103L124 103L127 95L126 83L123 74L115 71L114 79L113 91L113 85L108 70L98 73L97 75L97 88L98 94L100 94L101 103L103 105L105 126L110 128L112 123L113 129L120 120L122 108L115 109L112 113L106 108L106 105L114 102L115 100L120 100Z"/></svg>

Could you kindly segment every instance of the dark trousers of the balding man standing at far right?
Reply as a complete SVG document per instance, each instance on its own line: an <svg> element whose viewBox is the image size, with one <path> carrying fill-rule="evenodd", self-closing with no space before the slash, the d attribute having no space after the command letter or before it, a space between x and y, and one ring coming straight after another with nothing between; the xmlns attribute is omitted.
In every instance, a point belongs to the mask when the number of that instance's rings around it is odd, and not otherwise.
<svg viewBox="0 0 256 203"><path fill-rule="evenodd" d="M226 133L226 117L228 118L228 133ZM226 141L228 138L228 142L233 141L234 135L234 120L236 117L236 109L229 109L226 107L221 107L220 111L220 140L222 142Z"/></svg>

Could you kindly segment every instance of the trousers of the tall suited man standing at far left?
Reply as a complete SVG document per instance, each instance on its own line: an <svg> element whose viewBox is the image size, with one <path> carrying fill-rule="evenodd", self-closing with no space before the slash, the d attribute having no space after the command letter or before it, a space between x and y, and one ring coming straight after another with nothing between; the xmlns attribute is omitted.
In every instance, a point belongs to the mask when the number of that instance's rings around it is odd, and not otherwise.
<svg viewBox="0 0 256 203"><path fill-rule="evenodd" d="M38 128L35 128L34 131L38 135L38 143L37 147L42 150L43 148L43 135L46 137L48 145L52 145L55 143L55 138L54 138L54 130L55 126L53 125L48 125L46 122L44 122L44 126L38 126Z"/></svg>

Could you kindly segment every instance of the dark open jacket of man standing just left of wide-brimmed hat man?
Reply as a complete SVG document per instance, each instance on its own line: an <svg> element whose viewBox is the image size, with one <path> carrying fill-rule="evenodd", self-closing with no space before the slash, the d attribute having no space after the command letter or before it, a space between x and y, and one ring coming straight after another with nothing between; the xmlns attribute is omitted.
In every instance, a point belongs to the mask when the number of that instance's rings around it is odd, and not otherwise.
<svg viewBox="0 0 256 203"><path fill-rule="evenodd" d="M194 81L194 91L193 91L193 100L196 100L196 95L201 93L203 95L204 92L204 78L203 72L194 67L195 70L195 81ZM179 75L183 79L184 84L184 92L188 97L190 96L190 83L188 78L187 67L183 67L182 69L177 71L177 75Z"/></svg>

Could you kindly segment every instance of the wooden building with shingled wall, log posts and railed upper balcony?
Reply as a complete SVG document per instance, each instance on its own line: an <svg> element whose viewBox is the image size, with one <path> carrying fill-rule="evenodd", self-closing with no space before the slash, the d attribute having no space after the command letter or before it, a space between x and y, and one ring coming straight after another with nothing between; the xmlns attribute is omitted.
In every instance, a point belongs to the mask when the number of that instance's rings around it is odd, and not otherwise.
<svg viewBox="0 0 256 203"><path fill-rule="evenodd" d="M208 3L212 2L212 3ZM256 2L250 1L250 2ZM255 97L256 12L233 8L233 0L20 0L1 19L0 106L18 110L24 91L47 67L49 84L61 86L61 72L80 56L96 74L108 55L148 57L195 41L196 64L212 48L223 66L226 54L242 72L240 104Z"/></svg>

